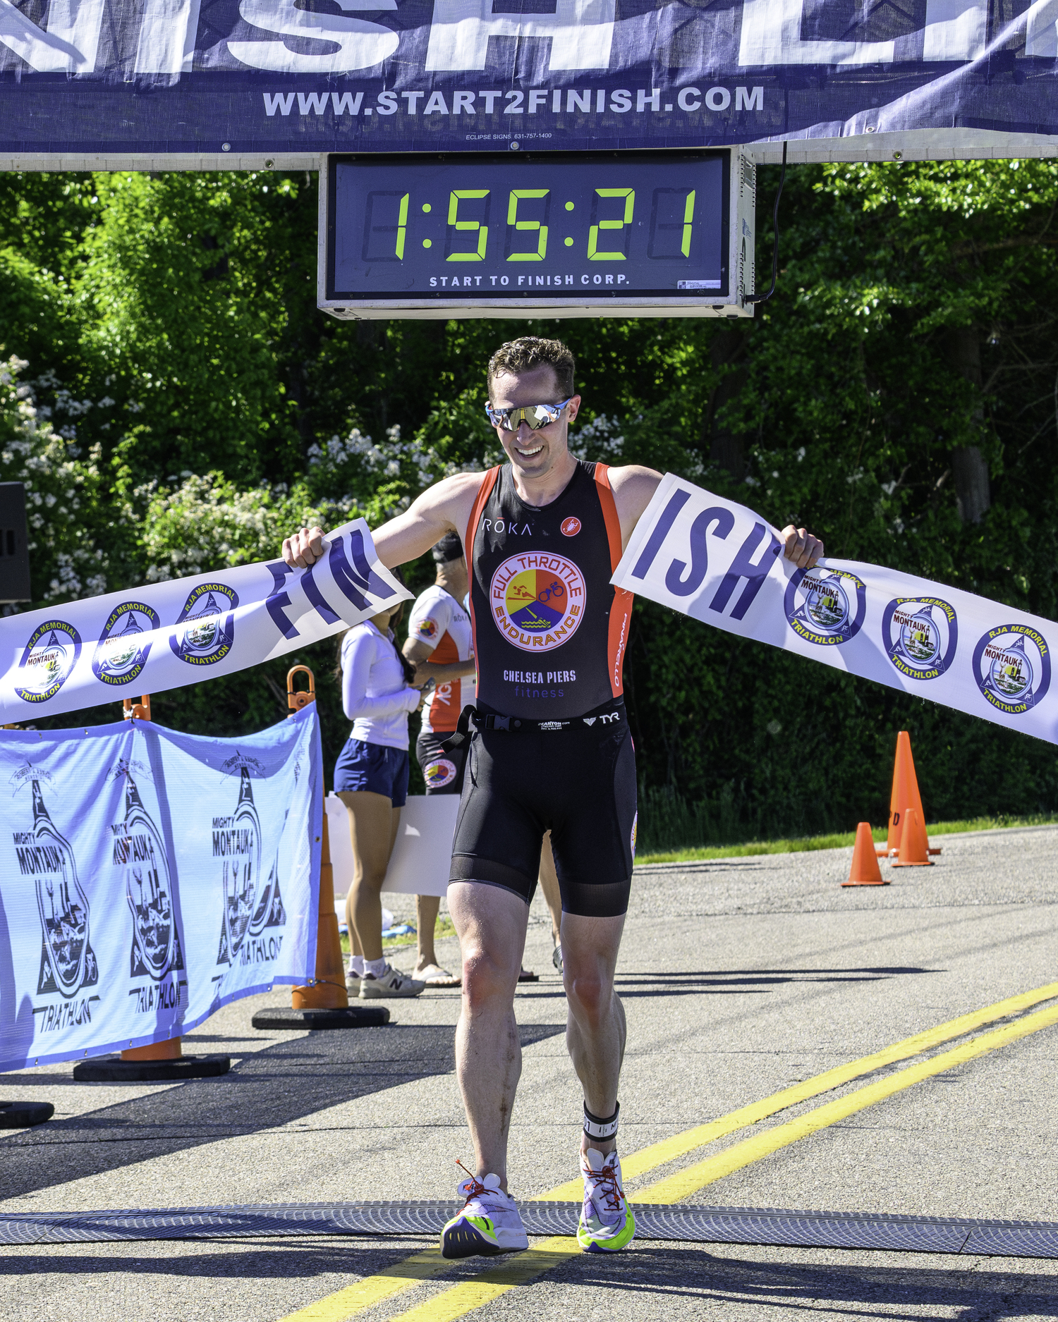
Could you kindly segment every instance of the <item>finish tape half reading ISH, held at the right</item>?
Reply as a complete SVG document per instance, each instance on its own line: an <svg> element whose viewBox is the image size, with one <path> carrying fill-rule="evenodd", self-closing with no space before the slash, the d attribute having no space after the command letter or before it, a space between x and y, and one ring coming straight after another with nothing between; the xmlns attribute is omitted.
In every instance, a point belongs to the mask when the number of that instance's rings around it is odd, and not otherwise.
<svg viewBox="0 0 1058 1322"><path fill-rule="evenodd" d="M770 642L1058 743L1058 624L943 583L821 559L797 570L759 514L668 473L612 582Z"/></svg>

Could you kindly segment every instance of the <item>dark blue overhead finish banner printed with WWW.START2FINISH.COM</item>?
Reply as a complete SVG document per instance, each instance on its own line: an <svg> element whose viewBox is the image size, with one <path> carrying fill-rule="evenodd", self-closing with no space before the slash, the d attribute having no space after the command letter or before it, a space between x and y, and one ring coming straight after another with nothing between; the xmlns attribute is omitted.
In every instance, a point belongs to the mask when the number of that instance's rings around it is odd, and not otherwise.
<svg viewBox="0 0 1058 1322"><path fill-rule="evenodd" d="M1057 25L1054 0L0 0L0 153L600 149L923 128L943 153L959 130L1058 134Z"/></svg>

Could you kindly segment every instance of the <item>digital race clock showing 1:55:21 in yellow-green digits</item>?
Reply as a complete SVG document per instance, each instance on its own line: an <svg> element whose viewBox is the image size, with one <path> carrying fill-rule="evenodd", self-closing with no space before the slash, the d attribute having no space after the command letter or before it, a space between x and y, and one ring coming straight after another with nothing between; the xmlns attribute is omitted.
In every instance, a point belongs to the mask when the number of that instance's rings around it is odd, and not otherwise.
<svg viewBox="0 0 1058 1322"><path fill-rule="evenodd" d="M751 316L738 151L331 156L319 305L340 317Z"/></svg>

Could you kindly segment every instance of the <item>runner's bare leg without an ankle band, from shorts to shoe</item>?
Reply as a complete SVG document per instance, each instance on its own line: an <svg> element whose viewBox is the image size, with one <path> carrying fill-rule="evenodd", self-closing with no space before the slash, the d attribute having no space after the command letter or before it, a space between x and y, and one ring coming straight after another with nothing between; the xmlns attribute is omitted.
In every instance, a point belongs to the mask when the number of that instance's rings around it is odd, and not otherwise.
<svg viewBox="0 0 1058 1322"><path fill-rule="evenodd" d="M521 1075L514 988L529 906L499 886L452 882L448 908L463 954L463 1013L455 1032L455 1060L476 1174L479 1179L499 1175L500 1187L507 1190L507 1136Z"/></svg>

